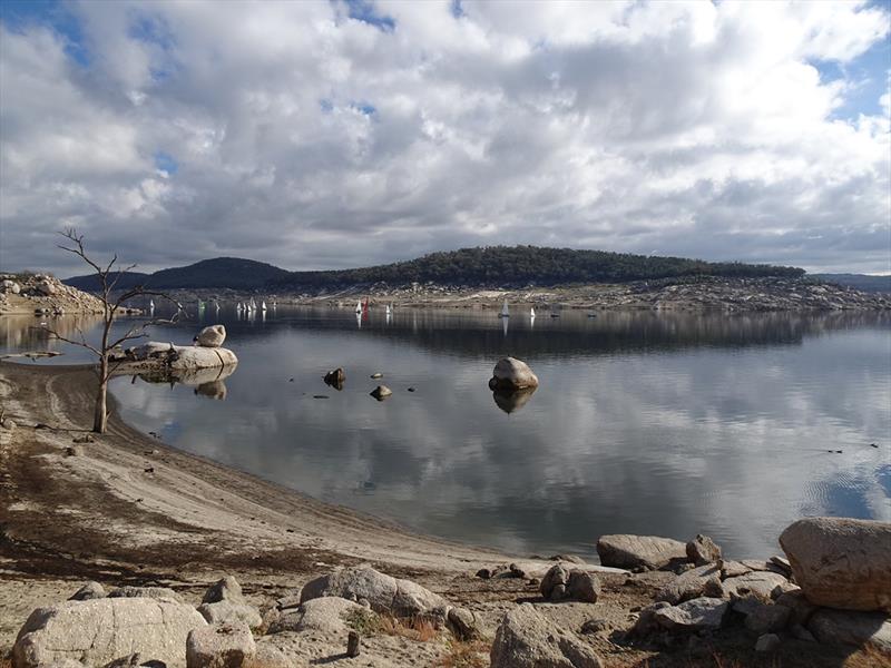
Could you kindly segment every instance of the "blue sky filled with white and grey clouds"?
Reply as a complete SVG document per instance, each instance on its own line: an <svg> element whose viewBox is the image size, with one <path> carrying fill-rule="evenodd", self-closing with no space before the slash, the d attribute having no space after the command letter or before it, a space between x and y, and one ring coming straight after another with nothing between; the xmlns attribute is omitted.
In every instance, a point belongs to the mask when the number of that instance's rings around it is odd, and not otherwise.
<svg viewBox="0 0 891 668"><path fill-rule="evenodd" d="M891 272L891 0L0 0L0 269Z"/></svg>

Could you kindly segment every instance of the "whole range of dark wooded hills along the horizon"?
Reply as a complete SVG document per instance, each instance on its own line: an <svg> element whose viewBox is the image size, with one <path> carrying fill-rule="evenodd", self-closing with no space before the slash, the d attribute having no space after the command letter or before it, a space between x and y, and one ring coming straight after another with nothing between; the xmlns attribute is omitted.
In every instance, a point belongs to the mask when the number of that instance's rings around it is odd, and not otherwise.
<svg viewBox="0 0 891 668"><path fill-rule="evenodd" d="M714 263L684 257L537 246L489 246L432 253L418 259L386 265L321 272L287 272L252 259L218 257L154 274L127 272L121 275L117 287L126 289L146 285L155 289L232 288L321 293L374 283L386 283L392 287L412 283L466 287L551 286L689 276L789 278L801 277L804 273L804 269L796 267ZM860 289L891 292L891 277L855 274L822 274L814 277ZM95 275L75 276L65 283L88 292L99 289Z"/></svg>

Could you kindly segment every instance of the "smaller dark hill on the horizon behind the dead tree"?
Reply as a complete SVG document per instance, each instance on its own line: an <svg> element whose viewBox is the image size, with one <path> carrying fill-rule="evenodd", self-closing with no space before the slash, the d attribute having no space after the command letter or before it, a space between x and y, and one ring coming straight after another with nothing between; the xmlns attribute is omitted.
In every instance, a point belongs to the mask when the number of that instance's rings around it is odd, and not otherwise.
<svg viewBox="0 0 891 668"><path fill-rule="evenodd" d="M263 262L238 257L203 259L185 267L161 269L154 274L125 272L117 287L128 288L146 285L155 289L228 287L232 289L256 289L267 283L287 276L288 272ZM65 281L79 289L96 292L99 283L95 275L74 276Z"/></svg>

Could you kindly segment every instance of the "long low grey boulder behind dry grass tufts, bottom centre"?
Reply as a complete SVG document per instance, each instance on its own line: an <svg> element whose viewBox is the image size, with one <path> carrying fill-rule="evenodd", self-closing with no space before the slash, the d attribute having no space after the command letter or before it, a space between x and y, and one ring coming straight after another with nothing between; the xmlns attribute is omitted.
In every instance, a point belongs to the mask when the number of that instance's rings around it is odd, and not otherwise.
<svg viewBox="0 0 891 668"><path fill-rule="evenodd" d="M371 567L336 570L311 580L300 592L301 603L324 596L365 599L376 612L396 616L446 613L446 599L410 580L392 578Z"/></svg>

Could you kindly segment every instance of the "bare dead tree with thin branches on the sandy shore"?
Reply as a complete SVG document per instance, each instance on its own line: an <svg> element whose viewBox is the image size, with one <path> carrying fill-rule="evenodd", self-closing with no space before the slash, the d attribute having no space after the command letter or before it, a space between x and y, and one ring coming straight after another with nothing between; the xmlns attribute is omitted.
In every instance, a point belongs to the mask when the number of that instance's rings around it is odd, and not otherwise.
<svg viewBox="0 0 891 668"><path fill-rule="evenodd" d="M99 279L99 293L97 296L102 303L101 338L99 344L95 346L87 343L84 332L79 328L77 330L79 338L63 336L50 327L43 327L43 330L49 332L51 336L58 338L59 341L87 348L99 358L99 363L96 367L99 386L96 394L96 406L92 416L92 431L101 434L105 433L108 425L108 381L110 380L111 374L115 372L117 366L120 364L120 362L111 362L111 353L118 346L128 341L135 341L148 336L146 330L151 325L174 322L182 313L183 307L178 302L173 299L167 294L148 289L145 285L137 285L128 289L121 289L118 295L112 295L118 281L120 281L120 277L125 273L134 269L136 265L129 265L123 269L116 268L115 265L118 263L117 254L107 265L101 265L87 254L87 250L84 247L84 235L78 235L74 228L67 229L66 232L60 232L59 234L68 239L67 243L59 244L59 248L77 255L80 259L92 267L94 272L96 272L96 277ZM173 318L165 320L151 317L149 320L143 320L140 322L133 323L123 336L112 338L111 325L115 321L115 316L127 310L128 302L131 302L138 297L158 297L160 299L168 301L177 307L177 311Z"/></svg>

